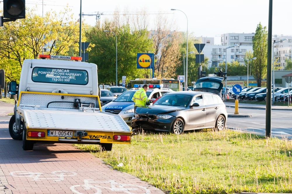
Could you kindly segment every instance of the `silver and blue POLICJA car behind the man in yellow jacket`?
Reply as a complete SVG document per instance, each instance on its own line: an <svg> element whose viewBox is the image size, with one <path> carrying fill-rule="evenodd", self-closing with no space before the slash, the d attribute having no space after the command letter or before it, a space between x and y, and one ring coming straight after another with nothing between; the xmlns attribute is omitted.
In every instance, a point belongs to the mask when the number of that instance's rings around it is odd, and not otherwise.
<svg viewBox="0 0 292 194"><path fill-rule="evenodd" d="M102 106L102 110L112 114L120 115L122 119L128 124L131 124L132 117L134 116L134 101L132 100L135 92L141 88L143 84L134 84L133 89L125 91L112 102ZM172 92L171 89L160 88L160 85L148 85L149 89L146 95L149 99L156 99L165 93Z"/></svg>

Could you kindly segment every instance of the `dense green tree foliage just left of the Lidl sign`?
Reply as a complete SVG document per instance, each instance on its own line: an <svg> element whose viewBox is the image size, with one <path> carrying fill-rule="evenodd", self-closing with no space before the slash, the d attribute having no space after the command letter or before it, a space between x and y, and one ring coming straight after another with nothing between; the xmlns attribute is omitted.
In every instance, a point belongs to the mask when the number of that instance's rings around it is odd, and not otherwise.
<svg viewBox="0 0 292 194"><path fill-rule="evenodd" d="M137 53L152 53L152 40L148 39L146 30L131 30L129 25L114 28L108 23L107 29L112 29L117 36L117 65L118 82L122 76L130 79L150 75L149 70L137 69ZM112 27L110 27L112 26ZM98 66L98 81L100 83L114 83L116 80L116 37L107 29L91 28L86 32L87 40L95 47L89 53L89 62ZM148 72L148 73L147 73Z"/></svg>

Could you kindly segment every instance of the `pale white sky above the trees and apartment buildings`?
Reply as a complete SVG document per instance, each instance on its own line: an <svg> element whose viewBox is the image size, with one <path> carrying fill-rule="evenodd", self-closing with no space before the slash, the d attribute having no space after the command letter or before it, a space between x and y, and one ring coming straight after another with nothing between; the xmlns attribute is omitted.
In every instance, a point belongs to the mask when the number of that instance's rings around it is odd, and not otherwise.
<svg viewBox="0 0 292 194"><path fill-rule="evenodd" d="M43 3L44 13L52 9L60 11L68 4L74 17L79 18L80 0L26 0L28 7L38 6L40 15ZM214 37L215 44L220 44L221 34L252 33L256 31L259 22L268 27L269 0L82 0L81 8L84 14L103 13L100 16L101 23L106 18L111 19L110 14L117 9L121 13L124 10L131 13L145 10L149 13L149 30L154 29L157 13L164 13L170 22L175 22L174 27L179 31L188 30L189 36ZM181 11L171 11L172 8ZM292 35L291 8L292 0L274 0L273 35ZM82 22L95 26L95 18L85 15Z"/></svg>

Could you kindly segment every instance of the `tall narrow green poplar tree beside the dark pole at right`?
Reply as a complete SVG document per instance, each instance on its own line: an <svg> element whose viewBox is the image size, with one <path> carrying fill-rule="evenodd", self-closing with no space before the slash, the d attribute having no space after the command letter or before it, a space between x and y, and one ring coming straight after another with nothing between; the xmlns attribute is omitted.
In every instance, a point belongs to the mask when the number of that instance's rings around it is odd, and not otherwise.
<svg viewBox="0 0 292 194"><path fill-rule="evenodd" d="M252 74L257 79L258 87L261 86L263 77L267 75L267 36L267 27L263 27L259 23L253 39L253 56L257 59L254 60L252 69Z"/></svg>

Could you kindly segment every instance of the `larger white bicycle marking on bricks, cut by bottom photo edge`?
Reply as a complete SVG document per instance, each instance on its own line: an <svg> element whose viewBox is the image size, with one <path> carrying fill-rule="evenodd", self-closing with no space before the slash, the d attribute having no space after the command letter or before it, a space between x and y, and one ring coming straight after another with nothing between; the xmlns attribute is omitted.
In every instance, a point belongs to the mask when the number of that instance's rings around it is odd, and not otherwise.
<svg viewBox="0 0 292 194"><path fill-rule="evenodd" d="M110 183L110 187L101 186ZM93 179L84 179L83 185L73 185L70 189L77 194L83 194L82 191L88 192L95 192L94 194L101 194L102 189L107 189L111 191L123 191L124 193L133 194L137 193L137 190L142 190L143 193L150 194L150 190L146 187L133 185L133 184L120 184L117 183L115 180L107 180L107 181L94 181ZM82 191L81 191L82 190Z"/></svg>

